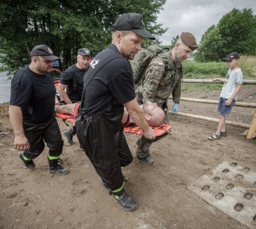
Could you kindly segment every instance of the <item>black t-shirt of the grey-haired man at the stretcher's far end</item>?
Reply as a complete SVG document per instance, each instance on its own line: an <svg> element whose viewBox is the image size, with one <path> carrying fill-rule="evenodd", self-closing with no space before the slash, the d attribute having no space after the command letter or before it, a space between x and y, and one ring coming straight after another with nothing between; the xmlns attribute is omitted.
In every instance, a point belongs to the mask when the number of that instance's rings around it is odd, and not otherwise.
<svg viewBox="0 0 256 229"><path fill-rule="evenodd" d="M70 66L60 78L60 83L64 85L68 85L66 88L66 94L72 101L72 103L76 103L77 101L81 101L81 96L83 92L83 77L87 70L81 70L76 65ZM75 86L74 86L75 82Z"/></svg>

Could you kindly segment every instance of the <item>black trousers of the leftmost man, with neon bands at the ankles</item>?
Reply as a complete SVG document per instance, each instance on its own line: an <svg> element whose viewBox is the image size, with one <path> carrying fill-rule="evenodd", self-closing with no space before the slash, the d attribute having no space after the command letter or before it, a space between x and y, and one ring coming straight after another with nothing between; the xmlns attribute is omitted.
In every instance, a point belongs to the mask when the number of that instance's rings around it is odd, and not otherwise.
<svg viewBox="0 0 256 229"><path fill-rule="evenodd" d="M24 152L26 158L33 159L39 156L45 149L45 143L49 148L49 156L58 157L62 154L63 139L54 116L46 122L35 122L24 118L23 128L30 143L30 147Z"/></svg>

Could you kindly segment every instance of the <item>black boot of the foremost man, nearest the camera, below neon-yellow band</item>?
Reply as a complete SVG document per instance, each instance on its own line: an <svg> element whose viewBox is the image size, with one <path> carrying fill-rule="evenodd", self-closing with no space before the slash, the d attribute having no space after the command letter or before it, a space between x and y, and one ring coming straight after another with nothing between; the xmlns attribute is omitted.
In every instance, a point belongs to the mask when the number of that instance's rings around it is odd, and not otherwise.
<svg viewBox="0 0 256 229"><path fill-rule="evenodd" d="M125 211L133 211L137 208L137 203L128 196L124 189L120 192L112 192L112 196L117 203L125 209Z"/></svg>

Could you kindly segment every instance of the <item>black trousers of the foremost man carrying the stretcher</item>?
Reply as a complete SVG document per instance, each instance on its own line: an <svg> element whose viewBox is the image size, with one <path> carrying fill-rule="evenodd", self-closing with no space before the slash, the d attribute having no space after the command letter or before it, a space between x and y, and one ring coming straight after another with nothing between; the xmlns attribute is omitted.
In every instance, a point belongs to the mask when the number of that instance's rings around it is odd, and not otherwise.
<svg viewBox="0 0 256 229"><path fill-rule="evenodd" d="M133 161L123 134L122 116L123 107L119 107L95 116L81 115L75 122L79 144L112 191L123 185L121 167Z"/></svg>

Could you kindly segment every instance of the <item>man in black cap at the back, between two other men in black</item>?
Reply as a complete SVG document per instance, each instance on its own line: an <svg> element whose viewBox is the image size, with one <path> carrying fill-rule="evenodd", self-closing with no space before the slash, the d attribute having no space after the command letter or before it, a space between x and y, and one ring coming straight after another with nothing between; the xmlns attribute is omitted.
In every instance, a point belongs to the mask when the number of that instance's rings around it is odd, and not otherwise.
<svg viewBox="0 0 256 229"><path fill-rule="evenodd" d="M58 84L58 93L67 104L81 101L83 76L90 62L91 51L88 48L80 48L77 51L77 63L70 66L61 75L60 83Z"/></svg>

